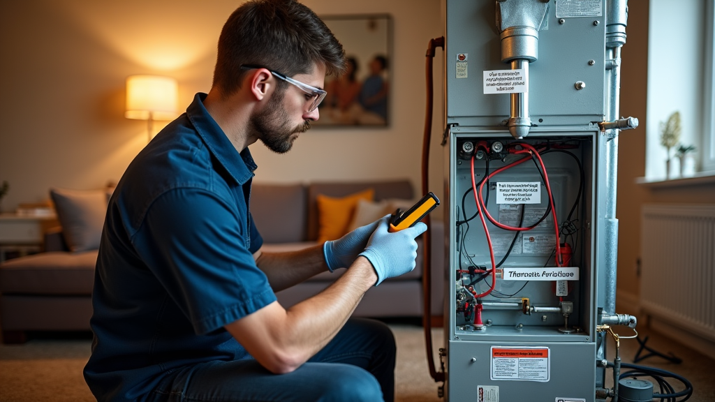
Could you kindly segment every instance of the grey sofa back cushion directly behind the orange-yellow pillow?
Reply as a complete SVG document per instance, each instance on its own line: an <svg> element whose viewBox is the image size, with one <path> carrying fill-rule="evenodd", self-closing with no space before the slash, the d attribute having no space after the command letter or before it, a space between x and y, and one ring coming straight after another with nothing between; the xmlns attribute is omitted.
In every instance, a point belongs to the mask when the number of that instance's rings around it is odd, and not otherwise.
<svg viewBox="0 0 715 402"><path fill-rule="evenodd" d="M413 190L409 180L391 180L385 182L314 182L308 185L307 197L307 240L317 240L318 232L318 211L317 195L327 195L328 197L345 197L346 195L373 188L375 190L375 200L385 200L386 198L403 198L412 200Z"/></svg>

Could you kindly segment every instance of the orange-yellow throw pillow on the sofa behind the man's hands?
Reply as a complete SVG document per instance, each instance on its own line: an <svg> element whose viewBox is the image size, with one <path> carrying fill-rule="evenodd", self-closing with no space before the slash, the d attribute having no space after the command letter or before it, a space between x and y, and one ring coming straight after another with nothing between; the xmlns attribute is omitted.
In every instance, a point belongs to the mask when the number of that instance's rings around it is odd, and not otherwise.
<svg viewBox="0 0 715 402"><path fill-rule="evenodd" d="M322 243L345 235L358 200L372 201L374 197L375 190L372 188L341 198L317 195L317 241Z"/></svg>

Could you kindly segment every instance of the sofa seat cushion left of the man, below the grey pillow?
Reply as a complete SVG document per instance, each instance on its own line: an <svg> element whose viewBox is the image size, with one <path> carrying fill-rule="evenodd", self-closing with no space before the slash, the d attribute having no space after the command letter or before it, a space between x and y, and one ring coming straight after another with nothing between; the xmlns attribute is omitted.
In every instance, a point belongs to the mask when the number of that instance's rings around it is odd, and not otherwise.
<svg viewBox="0 0 715 402"><path fill-rule="evenodd" d="M28 255L0 265L0 292L92 295L98 250Z"/></svg>

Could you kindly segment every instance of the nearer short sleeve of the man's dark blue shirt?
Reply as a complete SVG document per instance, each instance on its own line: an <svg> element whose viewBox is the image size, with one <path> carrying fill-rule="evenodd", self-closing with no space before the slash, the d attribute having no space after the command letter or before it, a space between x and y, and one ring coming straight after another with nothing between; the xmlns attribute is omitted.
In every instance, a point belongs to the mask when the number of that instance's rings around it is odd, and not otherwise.
<svg viewBox="0 0 715 402"><path fill-rule="evenodd" d="M262 238L250 215L211 192L179 188L159 196L132 242L197 334L276 300L253 259Z"/></svg>

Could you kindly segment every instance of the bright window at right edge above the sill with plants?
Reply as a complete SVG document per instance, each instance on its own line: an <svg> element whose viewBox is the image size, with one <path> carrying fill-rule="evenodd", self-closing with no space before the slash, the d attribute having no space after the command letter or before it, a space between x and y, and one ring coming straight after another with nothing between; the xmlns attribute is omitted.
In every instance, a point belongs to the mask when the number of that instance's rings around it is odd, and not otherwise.
<svg viewBox="0 0 715 402"><path fill-rule="evenodd" d="M667 155L660 141L661 122L676 111L680 144L696 147L694 175L715 175L714 20L711 0L650 1L646 180L666 177L669 156L670 177L680 177L676 150Z"/></svg>

